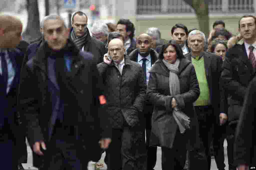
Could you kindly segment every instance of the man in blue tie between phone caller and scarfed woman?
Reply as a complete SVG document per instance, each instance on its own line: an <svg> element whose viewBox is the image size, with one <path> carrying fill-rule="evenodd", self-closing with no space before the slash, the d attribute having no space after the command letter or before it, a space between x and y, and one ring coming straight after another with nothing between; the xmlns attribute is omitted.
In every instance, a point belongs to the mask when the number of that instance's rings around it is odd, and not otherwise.
<svg viewBox="0 0 256 170"><path fill-rule="evenodd" d="M152 47L152 37L148 34L141 34L137 37L136 46L137 49L132 51L129 55L132 61L139 63L143 69L144 80L148 83L149 70L152 65L158 59L158 53L153 50ZM154 106L150 102L145 102L143 107L143 115L145 117L145 127L146 127L146 145L147 145L147 169L152 170L156 165L156 147L149 146L150 134L151 134L151 117L153 113Z"/></svg>

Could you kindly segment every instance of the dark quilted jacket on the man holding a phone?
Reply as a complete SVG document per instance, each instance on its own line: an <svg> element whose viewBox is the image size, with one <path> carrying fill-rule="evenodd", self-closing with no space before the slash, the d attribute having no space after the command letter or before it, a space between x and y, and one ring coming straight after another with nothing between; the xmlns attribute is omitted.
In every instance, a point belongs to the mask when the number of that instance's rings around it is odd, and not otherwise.
<svg viewBox="0 0 256 170"><path fill-rule="evenodd" d="M146 84L140 64L131 61L126 55L124 60L122 75L113 61L110 65L97 65L105 86L104 95L110 124L112 128L119 129L123 127L124 121L132 127L138 125L143 118L141 113L146 95Z"/></svg>

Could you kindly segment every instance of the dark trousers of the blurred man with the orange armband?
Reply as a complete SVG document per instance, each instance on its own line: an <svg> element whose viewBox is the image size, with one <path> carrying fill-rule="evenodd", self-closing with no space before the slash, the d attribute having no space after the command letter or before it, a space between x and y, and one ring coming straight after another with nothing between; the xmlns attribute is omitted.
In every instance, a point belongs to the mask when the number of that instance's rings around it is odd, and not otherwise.
<svg viewBox="0 0 256 170"><path fill-rule="evenodd" d="M87 169L88 153L82 142L77 140L74 126L56 123L52 139L44 151L45 162L40 170L82 170Z"/></svg>

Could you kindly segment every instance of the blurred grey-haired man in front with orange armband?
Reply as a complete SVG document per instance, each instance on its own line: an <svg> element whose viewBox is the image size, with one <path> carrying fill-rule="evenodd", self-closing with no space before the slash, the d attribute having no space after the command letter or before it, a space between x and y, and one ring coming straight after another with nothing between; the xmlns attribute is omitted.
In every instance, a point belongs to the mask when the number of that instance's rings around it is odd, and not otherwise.
<svg viewBox="0 0 256 170"><path fill-rule="evenodd" d="M46 42L26 63L19 93L33 164L43 170L86 169L88 153L111 141L97 61L68 39L60 16L49 15L43 31Z"/></svg>

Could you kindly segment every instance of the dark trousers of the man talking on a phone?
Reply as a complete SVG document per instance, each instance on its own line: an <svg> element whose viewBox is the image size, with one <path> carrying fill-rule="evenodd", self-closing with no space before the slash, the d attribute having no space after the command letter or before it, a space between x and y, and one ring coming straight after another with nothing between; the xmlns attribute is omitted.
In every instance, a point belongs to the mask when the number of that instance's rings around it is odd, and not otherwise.
<svg viewBox="0 0 256 170"><path fill-rule="evenodd" d="M106 149L104 160L108 170L141 170L146 168L145 132L142 132L144 145L135 143L135 133L136 131L128 125L124 126L123 129L112 129L112 141L109 148Z"/></svg>

